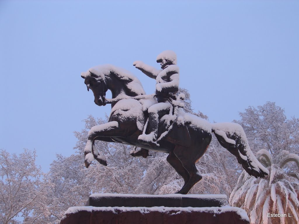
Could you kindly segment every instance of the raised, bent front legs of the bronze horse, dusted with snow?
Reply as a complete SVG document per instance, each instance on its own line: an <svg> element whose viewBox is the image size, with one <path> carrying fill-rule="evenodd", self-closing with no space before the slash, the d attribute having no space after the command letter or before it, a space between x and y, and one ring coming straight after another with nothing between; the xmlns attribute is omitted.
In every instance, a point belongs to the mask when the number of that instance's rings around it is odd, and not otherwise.
<svg viewBox="0 0 299 224"><path fill-rule="evenodd" d="M111 137L118 136L118 122L112 121L106 124L95 125L88 133L88 140L84 148L84 163L88 168L91 162L96 159L100 164L106 166L105 157L99 154L99 151L94 147L94 141L100 140L105 142L112 142Z"/></svg>

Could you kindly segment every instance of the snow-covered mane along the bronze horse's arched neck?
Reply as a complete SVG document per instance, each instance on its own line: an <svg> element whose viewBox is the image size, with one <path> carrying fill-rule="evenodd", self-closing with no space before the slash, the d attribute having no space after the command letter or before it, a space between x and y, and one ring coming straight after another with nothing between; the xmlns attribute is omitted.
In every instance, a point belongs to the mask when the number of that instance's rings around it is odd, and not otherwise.
<svg viewBox="0 0 299 224"><path fill-rule="evenodd" d="M119 67L115 67L114 65L98 65L95 67L90 68L90 73L94 73L97 75L100 79L103 79L105 81L106 77L109 78L111 74L113 74L116 78L118 78L120 81L122 81L125 84L125 87L127 90L132 93L133 95L144 95L145 91L142 87L141 82L139 79L130 73L127 70L124 70ZM88 73L88 72L86 72ZM89 74L81 74L83 76L89 75Z"/></svg>

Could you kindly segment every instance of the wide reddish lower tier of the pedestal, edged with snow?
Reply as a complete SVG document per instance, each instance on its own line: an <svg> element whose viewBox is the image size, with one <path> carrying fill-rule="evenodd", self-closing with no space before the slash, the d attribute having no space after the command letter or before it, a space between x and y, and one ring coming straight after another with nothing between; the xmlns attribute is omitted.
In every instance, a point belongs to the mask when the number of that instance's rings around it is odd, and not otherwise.
<svg viewBox="0 0 299 224"><path fill-rule="evenodd" d="M224 206L176 207L71 207L60 224L249 224L246 212Z"/></svg>

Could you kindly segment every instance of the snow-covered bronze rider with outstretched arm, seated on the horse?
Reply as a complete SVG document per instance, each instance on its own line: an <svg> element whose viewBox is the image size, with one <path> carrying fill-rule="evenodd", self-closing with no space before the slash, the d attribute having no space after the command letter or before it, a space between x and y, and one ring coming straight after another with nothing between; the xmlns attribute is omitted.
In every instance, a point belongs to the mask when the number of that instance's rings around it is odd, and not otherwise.
<svg viewBox="0 0 299 224"><path fill-rule="evenodd" d="M158 103L148 109L149 134L141 134L138 142L151 146L159 146L156 142L158 134L159 118L170 113L172 108L170 101L176 99L179 90L179 67L176 65L176 53L166 50L157 56L157 62L161 64L162 70L157 70L141 61L135 61L133 65L152 79L156 79L156 95Z"/></svg>

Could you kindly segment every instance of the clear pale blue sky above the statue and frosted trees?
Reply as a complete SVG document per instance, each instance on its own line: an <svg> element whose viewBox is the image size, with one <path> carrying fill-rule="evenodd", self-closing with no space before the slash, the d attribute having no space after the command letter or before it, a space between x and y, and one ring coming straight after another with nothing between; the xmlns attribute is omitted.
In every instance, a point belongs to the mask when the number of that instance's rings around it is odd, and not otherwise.
<svg viewBox="0 0 299 224"><path fill-rule="evenodd" d="M159 68L163 50L211 122L266 101L298 118L298 12L299 1L0 1L0 148L36 149L47 171L74 153L83 119L110 112L80 73L113 64L151 94L155 80L132 63Z"/></svg>

